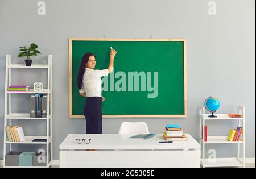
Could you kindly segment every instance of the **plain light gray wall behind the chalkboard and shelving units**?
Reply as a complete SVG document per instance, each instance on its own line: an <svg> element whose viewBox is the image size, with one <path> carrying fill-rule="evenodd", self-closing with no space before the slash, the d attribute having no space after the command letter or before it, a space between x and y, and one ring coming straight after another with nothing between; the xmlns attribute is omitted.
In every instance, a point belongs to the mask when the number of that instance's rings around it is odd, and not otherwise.
<svg viewBox="0 0 256 179"><path fill-rule="evenodd" d="M126 120L144 121L151 132L158 133L163 132L167 123L180 123L185 132L197 139L199 106L209 95L214 95L221 102L218 113L236 113L238 105L246 107L246 157L255 157L254 0L216 0L215 16L208 15L205 0L45 0L44 16L37 14L37 2L0 1L0 160L3 159L6 54L13 55L14 63L23 63L17 57L17 48L34 42L43 55L34 57L33 63L46 63L47 55L53 55L53 154L54 160L59 160L59 145L65 136L85 131L84 119L68 116L68 38L103 38L104 35L106 38L150 38L152 35L152 38L188 40L188 118L104 119L104 133L117 133ZM35 70L14 71L13 80L28 84L44 81L44 71L36 74ZM25 112L26 104L26 97L19 95L14 100L14 109ZM45 135L44 122L25 121L20 125L28 135ZM229 128L236 125L227 121L210 122L209 135L226 135ZM218 157L236 156L233 144L208 148L216 148ZM30 148L26 145L18 149Z"/></svg>

